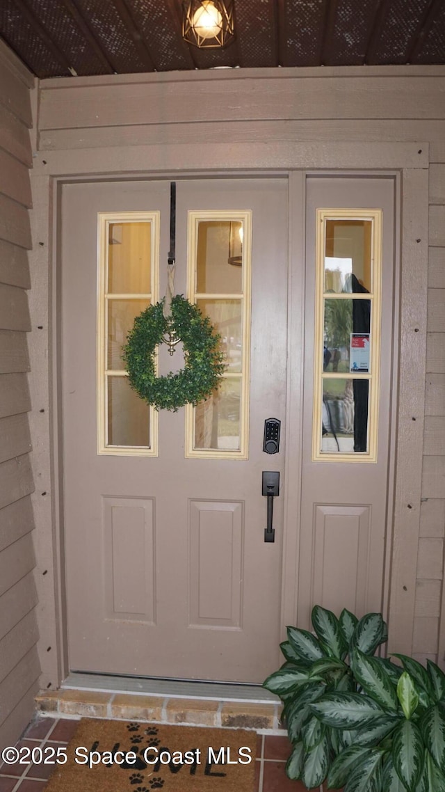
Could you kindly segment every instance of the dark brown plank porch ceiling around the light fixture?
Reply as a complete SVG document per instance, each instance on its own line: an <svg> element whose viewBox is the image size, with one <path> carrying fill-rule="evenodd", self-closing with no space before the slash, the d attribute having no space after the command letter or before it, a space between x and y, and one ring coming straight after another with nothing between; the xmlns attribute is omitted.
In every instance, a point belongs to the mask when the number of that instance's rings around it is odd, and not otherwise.
<svg viewBox="0 0 445 792"><path fill-rule="evenodd" d="M185 44L181 16L180 0L1 0L0 36L40 78L445 63L445 0L234 0L225 50Z"/></svg>

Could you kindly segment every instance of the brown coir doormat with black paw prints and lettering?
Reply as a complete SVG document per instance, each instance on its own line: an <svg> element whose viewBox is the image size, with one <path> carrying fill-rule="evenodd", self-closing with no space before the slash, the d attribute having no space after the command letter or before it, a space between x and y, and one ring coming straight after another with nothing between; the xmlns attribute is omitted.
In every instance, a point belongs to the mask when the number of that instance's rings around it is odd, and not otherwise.
<svg viewBox="0 0 445 792"><path fill-rule="evenodd" d="M245 729L82 718L44 789L254 792L256 749L257 733Z"/></svg>

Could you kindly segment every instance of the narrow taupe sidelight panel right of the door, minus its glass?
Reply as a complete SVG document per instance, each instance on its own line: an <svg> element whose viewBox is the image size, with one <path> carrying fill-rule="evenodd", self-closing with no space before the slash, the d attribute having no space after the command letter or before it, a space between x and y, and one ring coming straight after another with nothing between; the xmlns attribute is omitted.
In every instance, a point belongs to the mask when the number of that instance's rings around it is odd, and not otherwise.
<svg viewBox="0 0 445 792"><path fill-rule="evenodd" d="M313 461L314 359L323 366L321 347L317 355L314 348L316 219L317 210L321 208L329 208L329 211L332 209L333 215L337 209L337 214L341 217L343 210L382 209L382 305L381 320L378 322L382 344L378 371L376 369L372 372L373 376L378 376L378 409L374 413L377 422L376 462L366 459L366 455L354 452L353 440L348 441L348 455L342 455L341 461L337 461L335 455L330 455L330 459L323 461ZM341 220L341 223L345 222L344 219ZM376 251L373 254L375 253ZM337 266L340 265L341 262L337 263ZM353 265L352 260L351 266ZM366 267L360 272L360 279L362 278L369 280ZM348 607L357 615L382 610L390 470L390 409L394 383L393 284L394 180L391 177L309 177L306 192L305 394L298 606L300 626L310 623L310 609L314 604L329 607L337 613ZM336 289L328 284L325 291ZM363 291L369 291L369 283L368 288ZM348 295L345 294L341 302L344 304L347 301ZM362 300L360 307L363 307L364 302L367 300ZM359 298L352 299L352 303L359 303ZM352 327L347 329L349 332ZM318 343L321 345L322 342L319 338ZM341 350L341 360L346 360L344 352L347 351ZM348 377L353 376L349 373L352 367L349 367L348 360L344 365L346 379L341 379L339 367L339 373L335 375L339 379L331 379L329 382L337 383L337 389L344 390L339 401L347 403L348 395L352 401L356 398L356 393L352 394L352 389L350 394L348 392L345 383ZM363 379L357 381L363 383ZM368 417L368 422L370 420L371 417ZM344 428L344 435L347 436L350 432L353 438L353 424L352 420L350 428ZM320 434L321 427L316 427L315 435L319 437ZM335 451L335 447L333 450ZM356 450L359 451L359 448L356 447Z"/></svg>

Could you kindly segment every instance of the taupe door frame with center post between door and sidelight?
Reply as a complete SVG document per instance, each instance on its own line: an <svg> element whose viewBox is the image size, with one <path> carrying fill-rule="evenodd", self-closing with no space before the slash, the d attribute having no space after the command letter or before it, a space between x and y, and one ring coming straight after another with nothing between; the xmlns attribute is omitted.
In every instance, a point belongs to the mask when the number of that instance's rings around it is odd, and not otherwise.
<svg viewBox="0 0 445 792"><path fill-rule="evenodd" d="M394 373L398 384L392 405L390 499L386 534L383 612L389 620L390 649L411 653L416 588L416 557L420 527L420 485L424 428L424 371L426 360L428 276L428 144L426 143L219 143L207 162L200 143L181 147L169 143L119 149L119 173L113 170L116 149L55 150L39 152L31 173L35 209L31 213L35 248L30 253L32 333L29 352L32 464L36 492L32 496L36 520L36 585L39 594L42 676L40 687L55 689L67 676L67 639L64 604L63 486L59 432L59 218L60 187L67 181L116 181L177 177L252 177L286 175L289 178L289 316L292 361L287 384L287 447L301 437L302 412L295 408L295 392L302 384L304 321L299 303L304 294L304 204L306 172L330 175L396 175L399 185L395 261L400 272L396 301L398 347ZM204 161L203 161L204 159ZM144 162L146 171L141 171ZM229 170L226 162L234 163ZM159 165L162 163L162 167ZM397 227L397 223L396 223ZM403 267L401 262L403 251ZM396 284L397 295L397 284ZM413 294L416 299L413 300ZM298 310L295 310L295 306ZM293 309L293 310L292 310ZM400 310L400 313L399 313ZM397 349L400 357L397 359ZM409 350L409 352L408 352ZM47 353L48 352L48 353ZM292 357L293 356L293 357ZM410 372L418 371L412 382ZM44 413L42 413L44 410ZM397 420L396 420L397 419ZM413 420L415 419L415 420ZM396 436L397 425L397 436ZM48 442L49 438L49 442ZM284 510L282 623L297 621L299 499L287 482L299 481L298 454L287 459ZM51 650L48 647L52 647Z"/></svg>

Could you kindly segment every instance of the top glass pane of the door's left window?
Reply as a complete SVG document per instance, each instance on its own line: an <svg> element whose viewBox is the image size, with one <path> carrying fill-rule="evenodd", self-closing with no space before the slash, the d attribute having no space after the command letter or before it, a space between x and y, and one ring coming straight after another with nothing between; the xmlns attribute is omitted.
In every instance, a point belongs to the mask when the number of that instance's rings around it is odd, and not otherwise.
<svg viewBox="0 0 445 792"><path fill-rule="evenodd" d="M109 223L108 293L150 294L151 223Z"/></svg>

